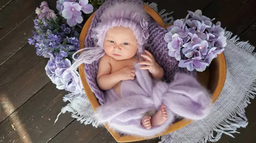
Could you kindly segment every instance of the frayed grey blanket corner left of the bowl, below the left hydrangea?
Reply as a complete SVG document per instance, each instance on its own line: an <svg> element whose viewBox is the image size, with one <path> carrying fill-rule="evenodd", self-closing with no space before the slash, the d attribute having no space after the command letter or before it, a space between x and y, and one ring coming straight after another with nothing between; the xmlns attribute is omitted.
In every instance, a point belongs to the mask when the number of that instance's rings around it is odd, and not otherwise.
<svg viewBox="0 0 256 143"><path fill-rule="evenodd" d="M58 114L54 124L57 122L59 116L61 113L66 113L66 111L71 112L72 113L72 117L73 118L77 118L77 121L80 121L80 123L84 123L84 125L90 124L92 123L92 126L94 126L95 128L97 128L99 126L99 123L97 122L97 120L95 120L95 118L92 117L93 114L93 109L92 107L88 107L88 104L90 104L90 102L87 99L87 96L85 95L85 92L82 91L82 95L80 94L73 94L73 93L69 93L67 95L65 95L63 97L63 101L69 101L70 103L67 104L65 107L61 108L61 112ZM83 114L81 111L78 111L77 108L74 108L74 106L76 106L76 100L82 101L83 100L83 105L80 106L84 106L87 110L91 110L88 112L88 115ZM87 107L86 107L87 104Z"/></svg>

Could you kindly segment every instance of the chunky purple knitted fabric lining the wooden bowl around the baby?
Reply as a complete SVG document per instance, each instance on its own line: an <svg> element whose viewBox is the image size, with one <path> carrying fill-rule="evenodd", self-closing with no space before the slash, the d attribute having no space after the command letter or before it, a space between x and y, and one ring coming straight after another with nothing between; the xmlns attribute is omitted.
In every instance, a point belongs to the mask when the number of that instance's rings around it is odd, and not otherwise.
<svg viewBox="0 0 256 143"><path fill-rule="evenodd" d="M96 27L96 24L100 22L99 17L102 15L102 12L110 7L111 5L117 2L134 2L136 5L139 5L143 8L143 2L141 0L107 0L105 3L95 12L95 16L92 19L91 26L87 32L87 36L84 40L84 47L94 47L95 42L92 39L92 28ZM152 18L148 21L148 44L149 47L145 47L149 52L154 55L156 62L164 69L164 81L170 82L173 80L174 74L176 72L193 74L196 75L196 72L189 72L186 68L178 67L178 61L174 57L168 56L167 43L164 41L164 35L167 32L166 29L157 24ZM98 71L99 60L92 62L92 64L85 64L85 74L86 80L94 92L96 98L100 104L104 104L105 96L102 90L99 89L96 82L96 76Z"/></svg>

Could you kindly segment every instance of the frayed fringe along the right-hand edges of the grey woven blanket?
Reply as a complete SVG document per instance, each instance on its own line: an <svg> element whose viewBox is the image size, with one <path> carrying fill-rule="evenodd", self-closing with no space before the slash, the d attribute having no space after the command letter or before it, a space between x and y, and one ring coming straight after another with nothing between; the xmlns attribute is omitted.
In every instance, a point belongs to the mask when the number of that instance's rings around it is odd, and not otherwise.
<svg viewBox="0 0 256 143"><path fill-rule="evenodd" d="M230 42L236 44L236 46L256 57L256 52L253 53L255 47L249 44L248 41L238 41L239 37L237 35L233 35L233 33L230 31L226 31L225 36ZM208 136L202 138L199 143L206 143L207 141L216 142L220 139L223 133L234 138L232 133L239 133L238 131L236 131L237 128L245 128L248 125L248 120L245 115L245 108L248 106L248 104L251 103L250 99L254 99L255 95L256 78L253 80L251 86L248 87L244 99L240 104L241 106L235 108L234 111L230 113L230 115L225 118L224 121L222 121L216 128L210 131Z"/></svg>

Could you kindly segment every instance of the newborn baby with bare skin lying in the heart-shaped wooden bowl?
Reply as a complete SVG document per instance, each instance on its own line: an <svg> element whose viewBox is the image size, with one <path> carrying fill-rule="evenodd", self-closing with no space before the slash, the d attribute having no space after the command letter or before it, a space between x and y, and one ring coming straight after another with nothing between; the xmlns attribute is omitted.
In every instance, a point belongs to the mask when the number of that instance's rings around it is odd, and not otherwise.
<svg viewBox="0 0 256 143"><path fill-rule="evenodd" d="M147 50L145 50L145 54L141 54L144 61L138 61L136 58L137 40L129 27L113 27L109 29L103 42L103 48L105 55L100 59L97 72L97 84L102 90L113 88L121 96L121 82L135 78L135 70L133 68L135 62L146 65L140 67L140 69L148 70L154 79L162 79L164 75L164 70ZM144 116L141 119L141 124L146 129L150 129L151 126L163 124L166 118L166 108L162 105L161 109L152 118L151 116Z"/></svg>

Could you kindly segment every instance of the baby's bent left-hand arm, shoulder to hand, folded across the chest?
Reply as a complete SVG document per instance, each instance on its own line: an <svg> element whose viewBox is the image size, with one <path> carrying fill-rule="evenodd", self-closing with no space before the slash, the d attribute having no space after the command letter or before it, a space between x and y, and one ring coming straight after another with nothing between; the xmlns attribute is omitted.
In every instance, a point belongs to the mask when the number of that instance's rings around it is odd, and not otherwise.
<svg viewBox="0 0 256 143"><path fill-rule="evenodd" d="M100 59L97 72L97 84L102 90L112 89L118 82L123 80L133 80L135 71L133 67L125 67L111 74L110 57L104 55Z"/></svg>

